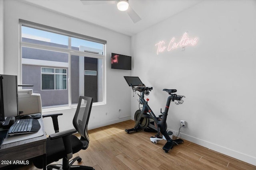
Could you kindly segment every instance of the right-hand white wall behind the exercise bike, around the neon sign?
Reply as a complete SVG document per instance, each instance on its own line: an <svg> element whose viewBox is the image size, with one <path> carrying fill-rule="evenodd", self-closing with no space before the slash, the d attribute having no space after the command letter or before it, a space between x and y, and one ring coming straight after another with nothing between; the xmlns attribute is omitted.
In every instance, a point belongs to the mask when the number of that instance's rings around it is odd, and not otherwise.
<svg viewBox="0 0 256 170"><path fill-rule="evenodd" d="M168 129L182 138L256 165L256 1L203 1L132 37L134 68L153 86L151 109L159 114L177 89L184 104L171 103ZM188 31L198 44L156 54L161 40ZM177 41L176 40L176 41ZM178 41L177 41L178 42ZM131 99L131 115L138 109Z"/></svg>

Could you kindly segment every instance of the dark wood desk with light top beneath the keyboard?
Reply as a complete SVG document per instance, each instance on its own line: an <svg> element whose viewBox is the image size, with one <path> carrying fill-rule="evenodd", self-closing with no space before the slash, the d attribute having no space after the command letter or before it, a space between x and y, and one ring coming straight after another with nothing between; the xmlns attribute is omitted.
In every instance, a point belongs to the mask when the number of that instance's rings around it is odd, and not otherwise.
<svg viewBox="0 0 256 170"><path fill-rule="evenodd" d="M38 121L42 121L42 117L38 119ZM43 155L44 170L46 170L46 134L44 131L44 123L41 124L39 131L43 131L44 135L2 145L0 149L0 161L6 160L13 162L23 160L24 162L21 162L21 164L26 164L26 160ZM30 138L29 135L31 134L26 135ZM7 165L0 162L0 168L4 166Z"/></svg>

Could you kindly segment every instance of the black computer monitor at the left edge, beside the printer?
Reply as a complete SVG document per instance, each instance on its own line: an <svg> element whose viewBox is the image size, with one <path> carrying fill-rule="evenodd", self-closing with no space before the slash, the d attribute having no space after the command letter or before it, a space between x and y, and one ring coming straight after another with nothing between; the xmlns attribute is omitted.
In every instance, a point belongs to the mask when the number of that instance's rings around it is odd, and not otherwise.
<svg viewBox="0 0 256 170"><path fill-rule="evenodd" d="M0 74L1 84L1 117L18 115L18 79L14 75ZM2 118L1 118L2 119Z"/></svg>

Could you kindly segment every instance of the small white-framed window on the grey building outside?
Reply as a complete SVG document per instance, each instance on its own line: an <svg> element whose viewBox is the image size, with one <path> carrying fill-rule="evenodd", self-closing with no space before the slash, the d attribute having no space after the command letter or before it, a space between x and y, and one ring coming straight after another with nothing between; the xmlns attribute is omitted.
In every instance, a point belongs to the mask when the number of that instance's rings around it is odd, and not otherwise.
<svg viewBox="0 0 256 170"><path fill-rule="evenodd" d="M42 90L66 90L67 69L42 68Z"/></svg>

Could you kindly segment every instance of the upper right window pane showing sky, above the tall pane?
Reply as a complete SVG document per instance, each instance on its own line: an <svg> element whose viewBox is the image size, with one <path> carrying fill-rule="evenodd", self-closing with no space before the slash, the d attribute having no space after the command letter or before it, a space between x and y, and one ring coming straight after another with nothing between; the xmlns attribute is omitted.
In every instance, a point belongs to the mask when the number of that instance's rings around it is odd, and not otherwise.
<svg viewBox="0 0 256 170"><path fill-rule="evenodd" d="M103 55L103 44L71 37L71 49Z"/></svg>

